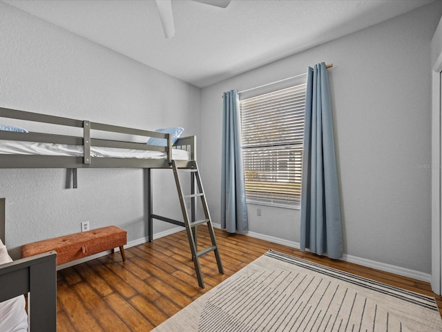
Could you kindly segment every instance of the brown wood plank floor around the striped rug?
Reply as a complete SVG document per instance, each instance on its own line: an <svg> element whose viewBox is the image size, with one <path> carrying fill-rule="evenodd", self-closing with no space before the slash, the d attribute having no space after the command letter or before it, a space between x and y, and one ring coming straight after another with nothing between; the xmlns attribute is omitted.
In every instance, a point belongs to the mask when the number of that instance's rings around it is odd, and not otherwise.
<svg viewBox="0 0 442 332"><path fill-rule="evenodd" d="M200 245L209 238L200 226ZM436 297L430 285L415 279L320 258L294 248L215 230L225 275L218 273L213 254L200 262L206 287L201 289L190 259L184 231L94 259L57 273L57 331L150 331L213 286L260 257L269 249L316 261L379 282Z"/></svg>

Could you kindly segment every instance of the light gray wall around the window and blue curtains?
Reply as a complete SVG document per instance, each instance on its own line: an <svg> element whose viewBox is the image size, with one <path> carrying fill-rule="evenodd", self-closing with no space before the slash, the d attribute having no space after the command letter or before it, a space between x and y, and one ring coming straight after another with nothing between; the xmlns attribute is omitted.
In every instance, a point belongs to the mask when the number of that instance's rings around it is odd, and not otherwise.
<svg viewBox="0 0 442 332"><path fill-rule="evenodd" d="M431 271L430 41L442 3L262 66L202 90L200 168L220 222L223 91L329 70L344 251L382 264ZM299 210L250 205L249 230L298 243Z"/></svg>

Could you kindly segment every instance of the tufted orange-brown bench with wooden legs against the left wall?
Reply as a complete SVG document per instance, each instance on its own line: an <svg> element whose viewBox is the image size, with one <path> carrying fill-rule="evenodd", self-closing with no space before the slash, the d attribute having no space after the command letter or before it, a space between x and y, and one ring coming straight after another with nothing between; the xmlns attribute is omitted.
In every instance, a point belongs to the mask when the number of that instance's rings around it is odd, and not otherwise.
<svg viewBox="0 0 442 332"><path fill-rule="evenodd" d="M25 244L21 246L21 257L55 250L57 252L57 265L61 265L105 250L112 250L113 253L114 249L119 247L122 259L126 261L123 247L126 243L126 230L116 226L108 226Z"/></svg>

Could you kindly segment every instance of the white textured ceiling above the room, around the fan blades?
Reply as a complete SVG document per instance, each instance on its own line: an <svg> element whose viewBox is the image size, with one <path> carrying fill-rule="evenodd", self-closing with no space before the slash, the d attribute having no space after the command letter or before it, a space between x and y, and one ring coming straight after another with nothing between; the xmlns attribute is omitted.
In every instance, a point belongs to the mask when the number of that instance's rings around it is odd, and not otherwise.
<svg viewBox="0 0 442 332"><path fill-rule="evenodd" d="M172 0L166 39L153 0L3 0L77 35L204 87L378 24L434 0Z"/></svg>

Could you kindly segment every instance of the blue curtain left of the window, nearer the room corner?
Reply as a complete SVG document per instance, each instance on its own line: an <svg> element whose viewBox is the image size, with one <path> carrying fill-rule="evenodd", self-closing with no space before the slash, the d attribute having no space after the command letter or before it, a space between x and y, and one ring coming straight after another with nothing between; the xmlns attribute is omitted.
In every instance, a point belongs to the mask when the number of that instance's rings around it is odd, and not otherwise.
<svg viewBox="0 0 442 332"><path fill-rule="evenodd" d="M238 91L222 96L221 228L247 232L247 205L241 151Z"/></svg>

